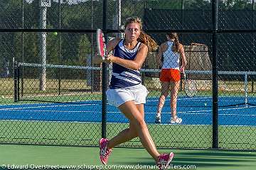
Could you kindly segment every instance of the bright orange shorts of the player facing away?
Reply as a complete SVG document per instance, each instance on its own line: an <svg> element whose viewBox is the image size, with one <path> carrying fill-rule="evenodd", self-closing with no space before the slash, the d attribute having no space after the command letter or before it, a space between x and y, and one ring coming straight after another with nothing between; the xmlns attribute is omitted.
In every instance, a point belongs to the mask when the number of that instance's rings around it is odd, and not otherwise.
<svg viewBox="0 0 256 170"><path fill-rule="evenodd" d="M181 73L178 69L161 69L160 81L180 81Z"/></svg>

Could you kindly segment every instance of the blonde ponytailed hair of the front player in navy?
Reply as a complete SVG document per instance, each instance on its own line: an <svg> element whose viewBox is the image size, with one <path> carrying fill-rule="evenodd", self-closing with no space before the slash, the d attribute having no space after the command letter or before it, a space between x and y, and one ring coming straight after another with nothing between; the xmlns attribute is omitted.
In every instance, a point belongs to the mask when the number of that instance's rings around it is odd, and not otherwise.
<svg viewBox="0 0 256 170"><path fill-rule="evenodd" d="M138 17L131 17L127 18L124 22L124 29L127 28L129 23L138 23L140 30L142 30L142 20ZM149 51L156 50L159 46L155 42L153 38L151 38L149 35L141 31L139 38L137 39L139 42L144 43L149 47Z"/></svg>

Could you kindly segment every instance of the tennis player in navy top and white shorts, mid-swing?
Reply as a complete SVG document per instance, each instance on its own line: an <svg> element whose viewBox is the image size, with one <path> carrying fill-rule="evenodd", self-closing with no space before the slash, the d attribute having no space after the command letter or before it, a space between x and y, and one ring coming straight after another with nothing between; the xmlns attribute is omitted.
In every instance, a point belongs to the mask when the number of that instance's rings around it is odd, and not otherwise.
<svg viewBox="0 0 256 170"><path fill-rule="evenodd" d="M154 158L159 169L171 162L174 153L159 154L149 134L144 120L144 103L148 91L142 85L139 69L146 59L147 52L156 49L156 42L142 32L140 18L127 18L124 23L124 39L114 38L107 44L108 55L105 62L112 62L112 79L107 90L107 99L129 119L129 128L122 130L111 140L100 139L100 160L107 164L112 148L139 137L147 152ZM100 57L95 57L100 59Z"/></svg>

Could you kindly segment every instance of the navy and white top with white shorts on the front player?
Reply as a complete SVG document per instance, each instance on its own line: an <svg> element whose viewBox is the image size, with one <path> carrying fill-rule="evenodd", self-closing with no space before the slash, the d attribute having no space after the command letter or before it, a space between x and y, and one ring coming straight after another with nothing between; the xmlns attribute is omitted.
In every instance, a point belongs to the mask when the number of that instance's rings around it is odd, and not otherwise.
<svg viewBox="0 0 256 170"><path fill-rule="evenodd" d="M120 40L114 47L114 56L124 60L134 60L141 42L132 50L124 47L124 40ZM146 103L148 91L142 85L142 78L139 70L128 69L119 64L112 65L112 78L110 88L107 90L107 99L111 105L120 106L127 101L134 101L135 104Z"/></svg>

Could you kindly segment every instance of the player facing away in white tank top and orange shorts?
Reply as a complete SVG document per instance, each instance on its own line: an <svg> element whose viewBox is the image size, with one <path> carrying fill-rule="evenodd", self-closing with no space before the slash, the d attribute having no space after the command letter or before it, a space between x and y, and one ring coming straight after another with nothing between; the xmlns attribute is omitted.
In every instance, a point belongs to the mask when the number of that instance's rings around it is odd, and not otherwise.
<svg viewBox="0 0 256 170"><path fill-rule="evenodd" d="M156 111L156 123L161 123L161 110L164 107L166 96L171 90L171 123L181 123L182 119L177 116L177 98L178 87L181 81L180 72L185 71L186 56L183 45L178 42L177 33L166 34L167 42L164 42L159 47L159 53L156 61L161 65L160 81L161 81L161 96ZM182 59L181 68L180 55ZM164 59L162 62L162 58Z"/></svg>

